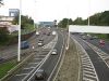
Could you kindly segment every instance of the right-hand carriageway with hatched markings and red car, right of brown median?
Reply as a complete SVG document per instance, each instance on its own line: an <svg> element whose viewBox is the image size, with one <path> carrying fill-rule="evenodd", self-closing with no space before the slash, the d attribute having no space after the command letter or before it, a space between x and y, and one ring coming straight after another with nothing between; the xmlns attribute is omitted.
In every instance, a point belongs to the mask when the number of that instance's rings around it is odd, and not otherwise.
<svg viewBox="0 0 109 81"><path fill-rule="evenodd" d="M83 48L82 54L83 81L109 80L109 42L89 33L71 33L72 39Z"/></svg>

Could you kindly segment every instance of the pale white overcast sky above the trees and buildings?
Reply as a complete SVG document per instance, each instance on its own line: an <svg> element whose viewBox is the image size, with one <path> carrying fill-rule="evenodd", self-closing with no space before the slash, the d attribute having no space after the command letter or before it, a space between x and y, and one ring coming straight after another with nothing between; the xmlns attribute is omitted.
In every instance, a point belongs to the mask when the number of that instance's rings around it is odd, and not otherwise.
<svg viewBox="0 0 109 81"><path fill-rule="evenodd" d="M3 0L0 15L9 15L9 9L20 9L20 0ZM64 17L75 19L98 12L109 11L109 0L22 0L22 14L35 22L61 21Z"/></svg>

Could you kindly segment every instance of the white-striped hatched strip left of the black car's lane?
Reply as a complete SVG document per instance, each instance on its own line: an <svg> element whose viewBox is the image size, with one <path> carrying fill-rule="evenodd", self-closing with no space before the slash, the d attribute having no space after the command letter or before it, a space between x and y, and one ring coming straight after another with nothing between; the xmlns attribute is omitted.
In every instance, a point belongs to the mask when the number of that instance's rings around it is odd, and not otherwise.
<svg viewBox="0 0 109 81"><path fill-rule="evenodd" d="M51 36L52 37L52 36ZM55 36L53 36L55 37ZM49 37L50 40L52 40L52 38ZM46 41L50 41L50 40L46 40ZM55 39L56 41L57 39ZM48 43L47 42L47 43ZM51 41L53 42L53 41ZM53 45L53 43L51 43ZM26 81L26 78L29 76L29 73L33 71L33 69L37 69L39 63L47 56L49 50L43 51L44 48L40 46L40 49L38 49L38 52L34 52L35 55L33 57L33 59L31 62L27 63L27 65L25 65L24 67L22 67L20 69L20 71L17 71L13 77L11 77L8 81ZM23 76L23 77L22 77ZM19 79L17 79L19 78Z"/></svg>

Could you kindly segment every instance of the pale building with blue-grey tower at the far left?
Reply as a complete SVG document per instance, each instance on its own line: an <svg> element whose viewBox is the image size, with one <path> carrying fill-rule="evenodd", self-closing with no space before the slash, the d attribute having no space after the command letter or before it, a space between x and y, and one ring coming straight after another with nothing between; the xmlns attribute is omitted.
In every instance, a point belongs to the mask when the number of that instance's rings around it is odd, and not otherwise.
<svg viewBox="0 0 109 81"><path fill-rule="evenodd" d="M7 29L10 33L19 30L19 25L12 25L12 21L20 13L19 9L9 9L9 16L0 15L0 29Z"/></svg>

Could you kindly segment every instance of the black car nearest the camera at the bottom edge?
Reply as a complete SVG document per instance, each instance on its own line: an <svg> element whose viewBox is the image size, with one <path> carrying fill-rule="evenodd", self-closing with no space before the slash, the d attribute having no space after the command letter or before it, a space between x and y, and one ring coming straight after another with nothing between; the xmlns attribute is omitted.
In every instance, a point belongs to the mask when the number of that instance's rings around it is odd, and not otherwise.
<svg viewBox="0 0 109 81"><path fill-rule="evenodd" d="M35 73L35 80L44 80L46 78L46 72L44 69L38 69Z"/></svg>

